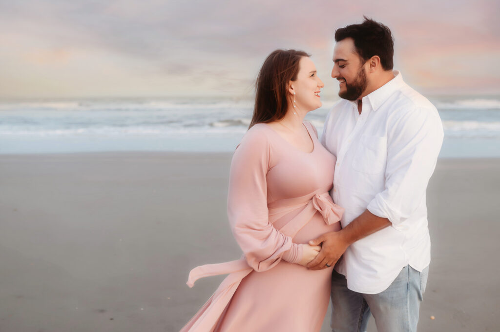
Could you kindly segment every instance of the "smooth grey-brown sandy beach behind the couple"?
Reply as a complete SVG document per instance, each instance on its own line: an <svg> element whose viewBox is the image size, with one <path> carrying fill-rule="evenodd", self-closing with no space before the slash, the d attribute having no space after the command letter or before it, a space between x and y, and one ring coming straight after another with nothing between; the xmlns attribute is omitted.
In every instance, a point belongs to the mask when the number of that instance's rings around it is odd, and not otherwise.
<svg viewBox="0 0 500 332"><path fill-rule="evenodd" d="M177 332L223 278L189 289L189 270L240 256L225 211L230 158L0 156L0 331ZM497 329L499 169L438 161L420 332Z"/></svg>

